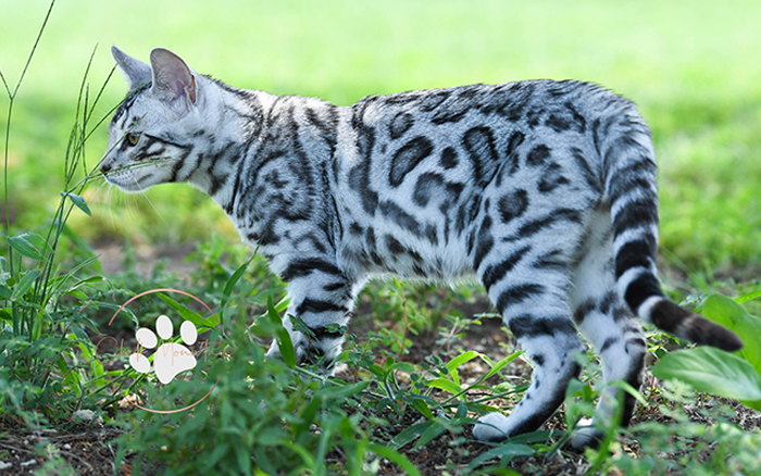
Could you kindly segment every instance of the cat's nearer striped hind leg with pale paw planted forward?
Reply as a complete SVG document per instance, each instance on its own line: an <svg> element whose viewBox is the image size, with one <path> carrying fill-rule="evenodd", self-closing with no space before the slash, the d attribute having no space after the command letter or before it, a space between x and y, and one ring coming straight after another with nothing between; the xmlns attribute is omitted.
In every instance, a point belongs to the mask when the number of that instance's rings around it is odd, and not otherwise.
<svg viewBox="0 0 761 476"><path fill-rule="evenodd" d="M581 372L574 355L584 351L571 317L569 278L561 259L553 258L552 266L537 267L548 260L540 247L507 249L504 245L500 254L506 261L484 266L482 279L534 372L526 393L509 415L490 413L475 425L473 435L484 441L538 429L563 403L569 381Z"/></svg>

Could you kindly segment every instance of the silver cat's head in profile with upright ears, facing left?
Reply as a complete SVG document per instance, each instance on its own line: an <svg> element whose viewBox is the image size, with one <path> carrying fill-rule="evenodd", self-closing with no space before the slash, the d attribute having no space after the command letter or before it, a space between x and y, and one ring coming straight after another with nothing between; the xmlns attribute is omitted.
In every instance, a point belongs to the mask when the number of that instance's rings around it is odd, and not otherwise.
<svg viewBox="0 0 761 476"><path fill-rule="evenodd" d="M111 120L101 173L125 191L176 181L192 149L188 136L203 123L205 78L163 48L151 51L150 65L116 47L111 52L129 92Z"/></svg>

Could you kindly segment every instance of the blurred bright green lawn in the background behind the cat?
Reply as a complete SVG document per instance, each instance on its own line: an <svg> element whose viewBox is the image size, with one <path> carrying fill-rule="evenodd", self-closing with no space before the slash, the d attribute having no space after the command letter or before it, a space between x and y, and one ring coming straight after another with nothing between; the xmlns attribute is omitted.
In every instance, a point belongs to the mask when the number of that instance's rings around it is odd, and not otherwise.
<svg viewBox="0 0 761 476"><path fill-rule="evenodd" d="M49 3L0 0L0 71L14 86ZM761 270L761 2L60 0L14 105L9 201L16 229L50 218L82 76L97 91L109 48L147 60L166 47L199 73L278 95L350 104L366 95L471 83L577 78L639 104L661 165L661 249L685 272ZM98 108L125 95L118 77ZM8 98L0 95L0 127ZM88 143L93 166L105 128ZM4 137L0 138L4 147ZM236 242L223 213L188 186L127 196L100 184L91 240ZM756 275L758 276L758 274Z"/></svg>

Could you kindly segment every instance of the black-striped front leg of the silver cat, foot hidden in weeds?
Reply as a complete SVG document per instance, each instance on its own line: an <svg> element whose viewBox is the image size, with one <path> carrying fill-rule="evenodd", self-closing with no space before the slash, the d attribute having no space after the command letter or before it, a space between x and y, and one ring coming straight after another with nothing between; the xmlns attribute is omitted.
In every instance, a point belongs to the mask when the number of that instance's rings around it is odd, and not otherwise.
<svg viewBox="0 0 761 476"><path fill-rule="evenodd" d="M354 303L352 280L324 258L295 260L280 277L288 281L290 296L283 325L290 334L297 362L330 372ZM277 342L267 354L279 354Z"/></svg>

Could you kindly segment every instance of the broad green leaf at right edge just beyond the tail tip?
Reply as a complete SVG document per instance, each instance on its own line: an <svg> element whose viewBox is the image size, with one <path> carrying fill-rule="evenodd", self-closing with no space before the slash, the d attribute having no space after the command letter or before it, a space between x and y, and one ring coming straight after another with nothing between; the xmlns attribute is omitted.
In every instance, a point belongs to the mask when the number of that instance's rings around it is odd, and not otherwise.
<svg viewBox="0 0 761 476"><path fill-rule="evenodd" d="M761 318L748 314L741 305L722 295L711 295L706 300L702 315L740 336L744 347L737 355L761 375Z"/></svg>

